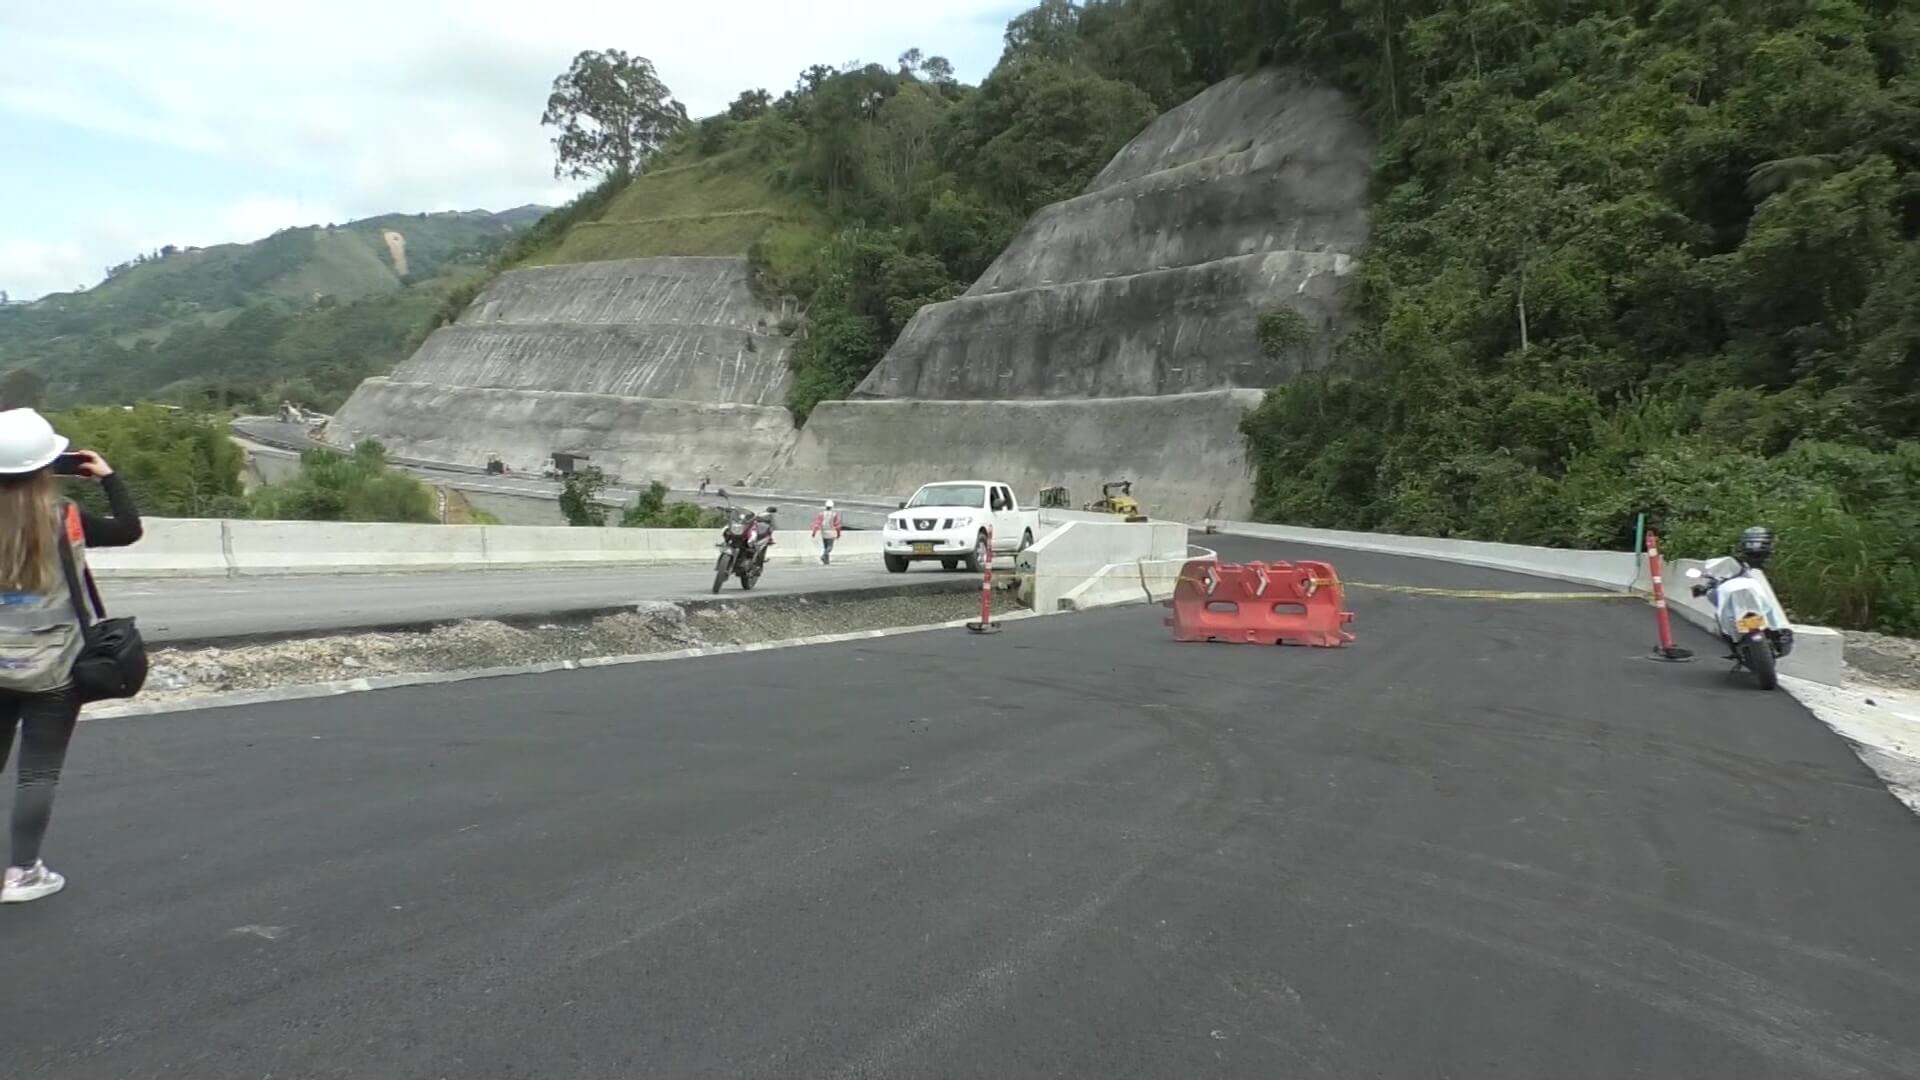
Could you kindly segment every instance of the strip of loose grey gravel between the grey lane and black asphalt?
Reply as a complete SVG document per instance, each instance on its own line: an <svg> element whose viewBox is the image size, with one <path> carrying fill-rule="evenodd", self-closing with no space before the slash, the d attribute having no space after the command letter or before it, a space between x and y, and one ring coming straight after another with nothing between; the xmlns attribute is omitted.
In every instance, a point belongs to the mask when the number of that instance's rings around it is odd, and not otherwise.
<svg viewBox="0 0 1920 1080"><path fill-rule="evenodd" d="M891 626L948 623L979 613L972 592L835 598L766 598L680 605L641 603L632 613L576 623L468 621L430 630L334 634L288 642L156 650L140 701L415 675L643 655L689 648L783 642Z"/></svg>

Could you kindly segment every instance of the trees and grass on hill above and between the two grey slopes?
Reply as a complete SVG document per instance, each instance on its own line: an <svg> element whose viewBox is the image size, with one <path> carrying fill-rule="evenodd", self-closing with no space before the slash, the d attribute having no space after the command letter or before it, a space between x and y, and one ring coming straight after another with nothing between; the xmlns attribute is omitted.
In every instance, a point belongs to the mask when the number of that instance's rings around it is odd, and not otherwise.
<svg viewBox="0 0 1920 1080"><path fill-rule="evenodd" d="M747 256L799 336L787 405L804 423L852 392L914 311L964 292L1027 213L1085 188L1156 111L1148 90L1039 46L1010 46L977 90L918 50L897 67L816 65L778 98L747 90L680 127L639 156L630 183L614 169L595 206L568 208L564 227L499 269Z"/></svg>

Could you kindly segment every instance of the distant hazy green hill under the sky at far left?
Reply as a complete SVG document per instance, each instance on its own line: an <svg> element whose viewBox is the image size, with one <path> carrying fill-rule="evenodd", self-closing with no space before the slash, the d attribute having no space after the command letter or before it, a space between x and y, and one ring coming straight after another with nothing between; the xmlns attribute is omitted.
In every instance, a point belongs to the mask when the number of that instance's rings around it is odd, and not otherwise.
<svg viewBox="0 0 1920 1080"><path fill-rule="evenodd" d="M52 404L328 405L403 359L445 296L540 213L394 213L163 248L94 288L0 307L0 371L31 371Z"/></svg>

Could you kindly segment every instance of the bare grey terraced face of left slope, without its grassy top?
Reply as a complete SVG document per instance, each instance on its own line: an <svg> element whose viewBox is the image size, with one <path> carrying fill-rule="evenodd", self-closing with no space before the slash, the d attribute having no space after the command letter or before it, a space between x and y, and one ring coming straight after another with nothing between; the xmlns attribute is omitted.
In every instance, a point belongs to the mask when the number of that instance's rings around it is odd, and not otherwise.
<svg viewBox="0 0 1920 1080"><path fill-rule="evenodd" d="M743 258L511 271L328 425L409 457L538 469L555 450L628 479L745 477L793 438L789 340Z"/></svg>

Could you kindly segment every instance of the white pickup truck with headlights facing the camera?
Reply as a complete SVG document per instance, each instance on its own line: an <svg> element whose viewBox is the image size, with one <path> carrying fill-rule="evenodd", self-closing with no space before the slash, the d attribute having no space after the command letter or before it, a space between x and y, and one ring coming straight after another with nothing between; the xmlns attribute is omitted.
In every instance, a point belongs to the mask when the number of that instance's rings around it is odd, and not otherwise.
<svg viewBox="0 0 1920 1080"><path fill-rule="evenodd" d="M897 575L933 559L948 571L962 563L979 571L989 559L989 528L995 555L1023 552L1041 530L1041 511L1020 509L1014 488L998 480L941 480L887 515L881 550Z"/></svg>

